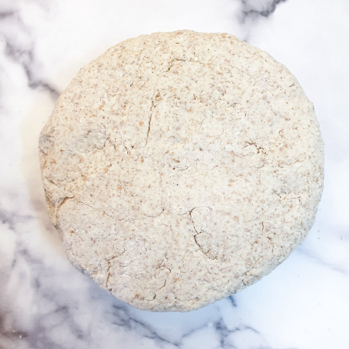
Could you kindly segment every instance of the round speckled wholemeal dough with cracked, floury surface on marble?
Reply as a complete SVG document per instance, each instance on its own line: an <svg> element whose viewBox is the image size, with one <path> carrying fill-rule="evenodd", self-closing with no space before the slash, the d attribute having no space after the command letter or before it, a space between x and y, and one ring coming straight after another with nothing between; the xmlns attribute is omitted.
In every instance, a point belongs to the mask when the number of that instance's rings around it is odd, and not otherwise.
<svg viewBox="0 0 349 349"><path fill-rule="evenodd" d="M69 260L139 309L189 311L251 285L311 228L313 104L229 34L128 39L84 66L39 141Z"/></svg>

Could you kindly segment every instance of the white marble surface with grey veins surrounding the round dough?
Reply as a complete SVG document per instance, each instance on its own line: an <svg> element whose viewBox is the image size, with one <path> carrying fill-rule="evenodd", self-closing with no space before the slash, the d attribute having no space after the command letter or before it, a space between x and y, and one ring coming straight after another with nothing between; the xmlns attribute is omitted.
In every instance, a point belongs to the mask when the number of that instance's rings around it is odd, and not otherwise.
<svg viewBox="0 0 349 349"><path fill-rule="evenodd" d="M1 0L0 348L349 348L346 0ZM66 260L38 135L77 70L122 39L225 31L268 51L315 104L325 189L305 242L262 281L190 313L142 312Z"/></svg>

